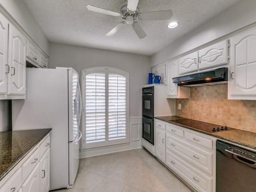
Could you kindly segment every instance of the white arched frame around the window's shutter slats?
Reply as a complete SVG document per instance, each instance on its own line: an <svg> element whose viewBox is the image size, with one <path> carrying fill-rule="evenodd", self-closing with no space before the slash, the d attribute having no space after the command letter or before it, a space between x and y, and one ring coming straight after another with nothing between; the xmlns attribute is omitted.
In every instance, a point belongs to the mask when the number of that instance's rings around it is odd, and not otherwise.
<svg viewBox="0 0 256 192"><path fill-rule="evenodd" d="M108 101L108 74L109 73L113 73L113 74L117 74L117 75L121 75L126 77L126 138L121 139L120 142L116 142L116 140L107 140L108 139L108 120L106 120L106 141L105 142L98 142L98 144L96 143L92 143L92 144L86 144L84 136L86 133L86 129L85 129L85 123L86 123L86 119L84 118L85 116L85 78L87 74L92 74L92 73L97 73L97 72L105 72L106 74L106 81L105 81L105 85L106 85L106 101ZM91 73L90 73L91 72ZM129 138L130 138L130 128L129 128L129 73L118 69L118 68L113 68L113 67L108 67L108 66L97 66L97 67L90 67L90 68L85 68L82 69L81 72L81 81L82 81L82 123L81 123L81 130L82 130L82 142L81 142L81 149L86 149L86 148L98 148L100 146L110 146L110 145L114 145L117 146L118 144L124 144L129 142ZM108 102L106 102L106 116L108 117ZM108 119L108 118L107 118Z"/></svg>

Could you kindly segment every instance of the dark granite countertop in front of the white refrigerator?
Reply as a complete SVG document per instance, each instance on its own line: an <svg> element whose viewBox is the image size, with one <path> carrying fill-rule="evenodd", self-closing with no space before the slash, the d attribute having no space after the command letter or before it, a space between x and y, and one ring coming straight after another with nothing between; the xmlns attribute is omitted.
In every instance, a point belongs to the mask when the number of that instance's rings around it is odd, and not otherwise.
<svg viewBox="0 0 256 192"><path fill-rule="evenodd" d="M52 129L0 132L0 180Z"/></svg>

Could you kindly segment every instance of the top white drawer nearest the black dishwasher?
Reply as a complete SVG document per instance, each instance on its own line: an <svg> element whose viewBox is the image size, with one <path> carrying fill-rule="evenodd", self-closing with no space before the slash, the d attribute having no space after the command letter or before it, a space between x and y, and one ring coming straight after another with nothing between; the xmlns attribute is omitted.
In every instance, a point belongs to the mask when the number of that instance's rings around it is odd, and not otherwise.
<svg viewBox="0 0 256 192"><path fill-rule="evenodd" d="M193 143L196 143L200 146L203 146L212 150L212 140L210 139L204 138L202 136L199 136L190 132L185 132L185 138Z"/></svg>

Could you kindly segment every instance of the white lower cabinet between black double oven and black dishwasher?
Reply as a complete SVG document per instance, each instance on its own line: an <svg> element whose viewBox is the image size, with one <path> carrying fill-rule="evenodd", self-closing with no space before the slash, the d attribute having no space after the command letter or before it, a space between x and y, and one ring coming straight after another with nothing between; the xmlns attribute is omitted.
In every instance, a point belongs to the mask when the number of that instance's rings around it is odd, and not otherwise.
<svg viewBox="0 0 256 192"><path fill-rule="evenodd" d="M216 138L158 119L155 122L156 157L196 191L215 192Z"/></svg>

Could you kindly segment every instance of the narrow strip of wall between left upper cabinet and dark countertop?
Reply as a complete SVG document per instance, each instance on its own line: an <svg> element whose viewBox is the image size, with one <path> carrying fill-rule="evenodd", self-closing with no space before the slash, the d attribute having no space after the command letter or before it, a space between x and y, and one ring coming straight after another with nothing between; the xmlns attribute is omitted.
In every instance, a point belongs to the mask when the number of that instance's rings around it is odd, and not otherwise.
<svg viewBox="0 0 256 192"><path fill-rule="evenodd" d="M0 132L8 130L8 100L0 100Z"/></svg>

